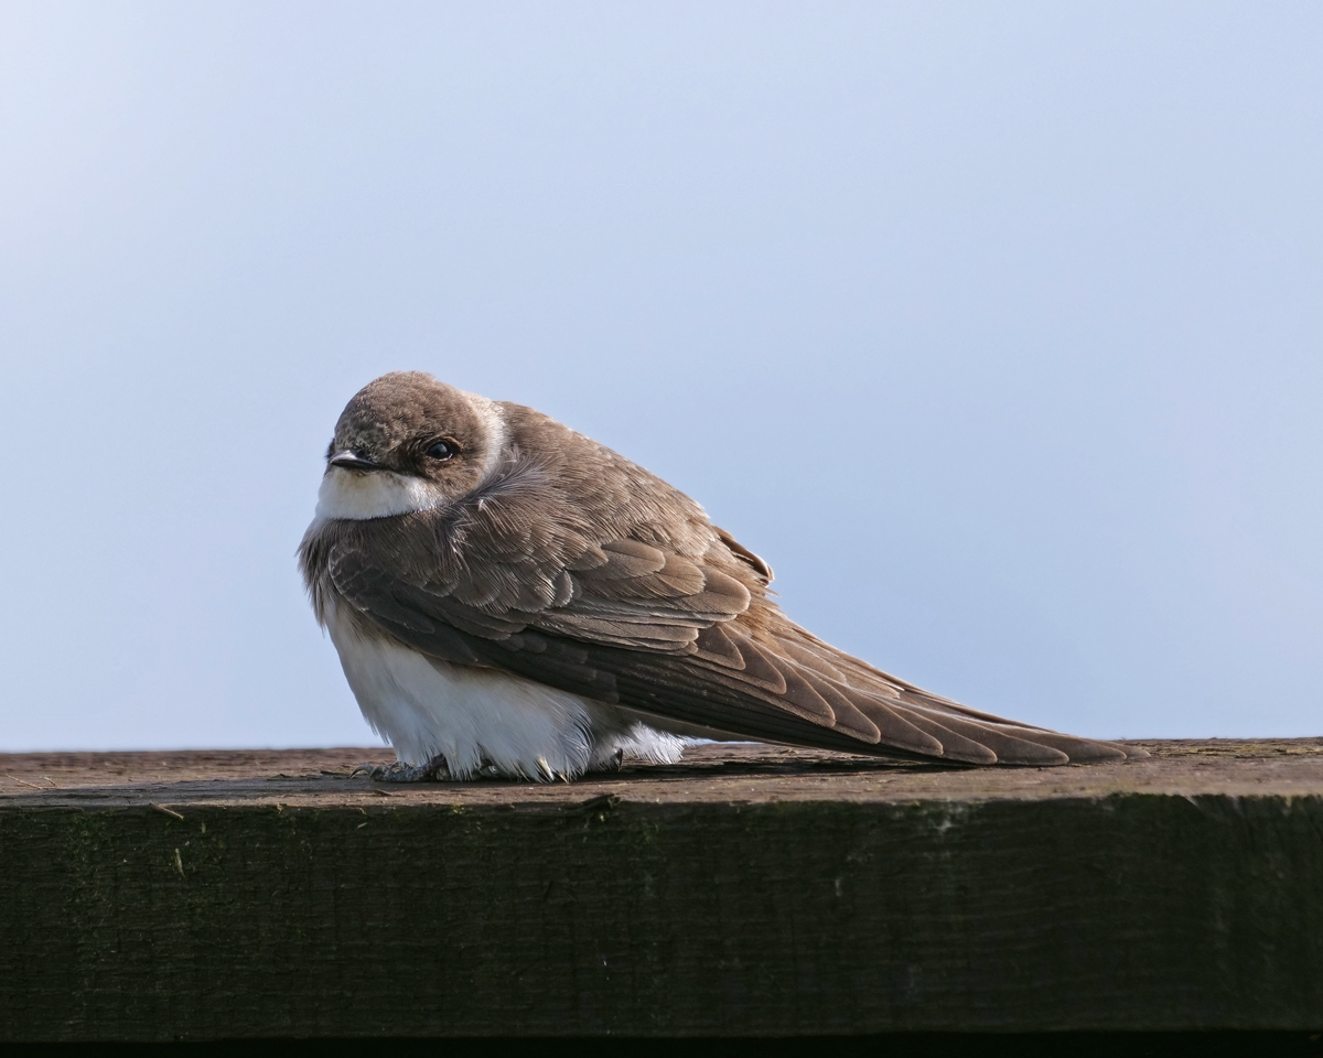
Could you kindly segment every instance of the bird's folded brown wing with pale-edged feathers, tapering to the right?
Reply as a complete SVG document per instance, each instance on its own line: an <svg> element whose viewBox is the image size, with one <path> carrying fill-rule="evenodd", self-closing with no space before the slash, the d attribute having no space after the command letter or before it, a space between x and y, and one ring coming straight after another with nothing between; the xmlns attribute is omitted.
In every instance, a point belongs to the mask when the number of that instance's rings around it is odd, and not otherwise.
<svg viewBox="0 0 1323 1058"><path fill-rule="evenodd" d="M471 532L476 516L466 517L460 529ZM524 521L507 517L507 538L486 553L445 526L422 557L393 550L393 538L363 546L364 533L398 532L364 524L321 550L335 590L423 653L662 718L953 763L1126 756L930 696L822 643L767 599L766 563L720 530L705 551L681 553L652 537L593 540L574 526L534 542ZM516 529L523 536L511 536Z"/></svg>

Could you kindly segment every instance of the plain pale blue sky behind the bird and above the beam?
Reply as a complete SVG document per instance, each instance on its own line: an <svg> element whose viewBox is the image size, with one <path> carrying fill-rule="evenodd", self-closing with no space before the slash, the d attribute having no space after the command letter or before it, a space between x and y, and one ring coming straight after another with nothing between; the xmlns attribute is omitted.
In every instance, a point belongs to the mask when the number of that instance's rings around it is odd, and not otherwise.
<svg viewBox="0 0 1323 1058"><path fill-rule="evenodd" d="M0 5L0 750L372 745L294 551L430 370L802 624L1323 734L1323 5Z"/></svg>

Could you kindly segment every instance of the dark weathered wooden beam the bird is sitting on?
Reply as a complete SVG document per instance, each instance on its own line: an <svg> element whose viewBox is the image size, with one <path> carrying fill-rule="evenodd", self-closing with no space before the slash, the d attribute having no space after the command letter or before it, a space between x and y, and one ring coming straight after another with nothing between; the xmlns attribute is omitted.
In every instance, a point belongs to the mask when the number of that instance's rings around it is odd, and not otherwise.
<svg viewBox="0 0 1323 1058"><path fill-rule="evenodd" d="M1323 739L1140 745L0 755L0 1039L1323 1025Z"/></svg>

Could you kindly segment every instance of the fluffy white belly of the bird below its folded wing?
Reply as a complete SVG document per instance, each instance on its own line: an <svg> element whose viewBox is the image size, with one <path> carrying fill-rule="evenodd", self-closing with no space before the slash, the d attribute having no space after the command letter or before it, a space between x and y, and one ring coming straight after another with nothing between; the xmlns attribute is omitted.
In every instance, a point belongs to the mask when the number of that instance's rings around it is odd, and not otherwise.
<svg viewBox="0 0 1323 1058"><path fill-rule="evenodd" d="M488 767L509 778L573 778L620 754L673 763L688 741L603 702L364 637L333 604L327 631L372 729L406 764L445 755L454 779Z"/></svg>

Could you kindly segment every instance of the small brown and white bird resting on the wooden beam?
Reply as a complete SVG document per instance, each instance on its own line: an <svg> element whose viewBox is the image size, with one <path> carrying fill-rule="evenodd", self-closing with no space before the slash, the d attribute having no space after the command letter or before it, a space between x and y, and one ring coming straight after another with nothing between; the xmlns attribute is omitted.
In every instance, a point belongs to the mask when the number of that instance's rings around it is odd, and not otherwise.
<svg viewBox="0 0 1323 1058"><path fill-rule="evenodd" d="M385 782L556 782L696 739L947 764L1142 750L1003 719L818 639L771 567L611 448L423 372L364 386L299 565Z"/></svg>

